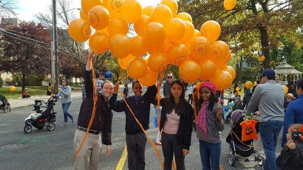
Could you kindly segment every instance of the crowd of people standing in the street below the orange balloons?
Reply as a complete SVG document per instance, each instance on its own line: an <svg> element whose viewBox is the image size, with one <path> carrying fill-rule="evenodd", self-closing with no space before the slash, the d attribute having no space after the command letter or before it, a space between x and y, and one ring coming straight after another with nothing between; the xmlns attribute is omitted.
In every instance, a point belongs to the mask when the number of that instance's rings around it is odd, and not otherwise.
<svg viewBox="0 0 303 170"><path fill-rule="evenodd" d="M203 169L220 169L221 155L221 131L224 130L223 103L220 103L222 93L216 90L213 83L205 81L198 84L186 84L188 100L185 99L185 84L180 80L174 80L172 72L166 74L166 82L163 84L164 96L160 96L158 107L157 84L143 90L143 85L134 81L131 84L134 95L129 95L128 85L124 84L123 97L118 100L120 82L102 80L102 74L94 70L95 75L100 75L96 82L97 103L95 119L91 122L88 136L82 147L80 143L85 138L85 132L89 126L93 110L93 77L91 62L93 52L89 53L84 74L83 101L78 116L77 129L74 137L74 148L77 154L75 169L98 169L99 155L102 145L106 145L106 155L111 154L111 135L113 111L125 113L125 133L128 154L128 169L145 169L145 148L147 138L143 130L149 129L150 104L154 104L155 127L158 135L156 144L162 146L164 167L172 169L173 157L177 169L185 169L185 157L189 153L192 135L192 122L194 118L193 102L196 105L196 138L199 142L200 161ZM256 112L260 116L260 136L266 155L262 169L300 169L303 166L303 144L301 140L292 141L293 129L303 126L303 79L296 82L295 95L284 95L284 88L275 81L275 72L266 69L257 81L257 85L244 88L243 109L248 113ZM291 82L290 82L291 84ZM71 88L67 80L62 81L57 97L62 97L64 123L66 126L68 117L75 123L75 118L68 112L72 102ZM99 87L98 87L99 86ZM237 88L238 87L238 88ZM240 82L234 86L234 91L229 89L228 100L242 100L239 91L242 89ZM289 91L291 92L291 91ZM232 94L235 96L232 97ZM223 93L224 95L224 93ZM199 96L199 97L197 97ZM194 99L194 100L192 100ZM224 99L224 98L223 98ZM130 109L129 109L130 108ZM158 124L158 109L160 112L160 124ZM136 117L136 120L134 119ZM141 125L141 127L139 126ZM288 146L290 151L281 150L281 155L276 158L275 149L279 140L278 136L283 129L281 146ZM100 136L102 135L102 136ZM293 159L288 159L289 157ZM294 163L296 160L296 163Z"/></svg>

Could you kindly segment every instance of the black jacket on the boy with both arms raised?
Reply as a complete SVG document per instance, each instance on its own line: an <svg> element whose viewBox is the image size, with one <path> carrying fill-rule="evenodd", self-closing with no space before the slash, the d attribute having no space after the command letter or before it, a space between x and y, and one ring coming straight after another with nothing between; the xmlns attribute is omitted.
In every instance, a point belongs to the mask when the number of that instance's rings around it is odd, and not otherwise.
<svg viewBox="0 0 303 170"><path fill-rule="evenodd" d="M153 102L157 95L156 85L147 88L145 94L139 97L138 101L135 100L135 96L128 96L125 98L127 104L132 109L135 117L138 119L144 130L149 129L149 111L150 103ZM110 103L110 107L117 112L125 112L126 123L125 132L126 135L134 135L143 132L138 123L135 121L131 111L128 109L123 99L117 100L117 94L113 94L111 97L115 102Z"/></svg>

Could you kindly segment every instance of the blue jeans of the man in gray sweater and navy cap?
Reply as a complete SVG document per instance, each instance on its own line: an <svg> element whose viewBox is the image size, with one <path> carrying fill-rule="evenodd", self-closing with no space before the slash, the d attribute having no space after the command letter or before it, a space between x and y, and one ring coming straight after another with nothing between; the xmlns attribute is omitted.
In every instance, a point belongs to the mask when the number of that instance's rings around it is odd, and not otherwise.
<svg viewBox="0 0 303 170"><path fill-rule="evenodd" d="M282 121L260 122L260 136L266 155L264 169L277 170L276 146L279 133L283 127Z"/></svg>

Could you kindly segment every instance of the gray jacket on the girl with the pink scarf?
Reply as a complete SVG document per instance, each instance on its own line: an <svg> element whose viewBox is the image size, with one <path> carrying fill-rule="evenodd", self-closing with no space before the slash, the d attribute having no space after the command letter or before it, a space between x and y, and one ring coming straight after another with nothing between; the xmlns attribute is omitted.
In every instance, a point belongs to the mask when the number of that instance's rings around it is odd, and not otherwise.
<svg viewBox="0 0 303 170"><path fill-rule="evenodd" d="M219 131L224 130L224 123L222 121L217 121L217 106L218 102L214 104L213 110L211 111L208 106L206 110L206 125L207 125L207 135L197 127L197 138L205 142L218 143L221 141L221 133ZM221 105L221 104L220 104ZM200 107L200 106L199 106ZM200 108L198 109L198 111ZM221 110L223 112L224 108L221 105ZM222 113L223 115L223 113Z"/></svg>

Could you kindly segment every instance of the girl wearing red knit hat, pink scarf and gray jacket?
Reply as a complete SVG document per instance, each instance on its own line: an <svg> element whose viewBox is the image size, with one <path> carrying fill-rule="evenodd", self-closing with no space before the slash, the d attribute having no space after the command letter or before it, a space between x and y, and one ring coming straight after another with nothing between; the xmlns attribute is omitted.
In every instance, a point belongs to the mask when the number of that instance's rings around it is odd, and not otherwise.
<svg viewBox="0 0 303 170"><path fill-rule="evenodd" d="M196 123L200 157L203 170L220 169L221 135L224 130L223 106L218 102L216 87L211 82L204 82L199 88L200 100L197 103L198 118Z"/></svg>

